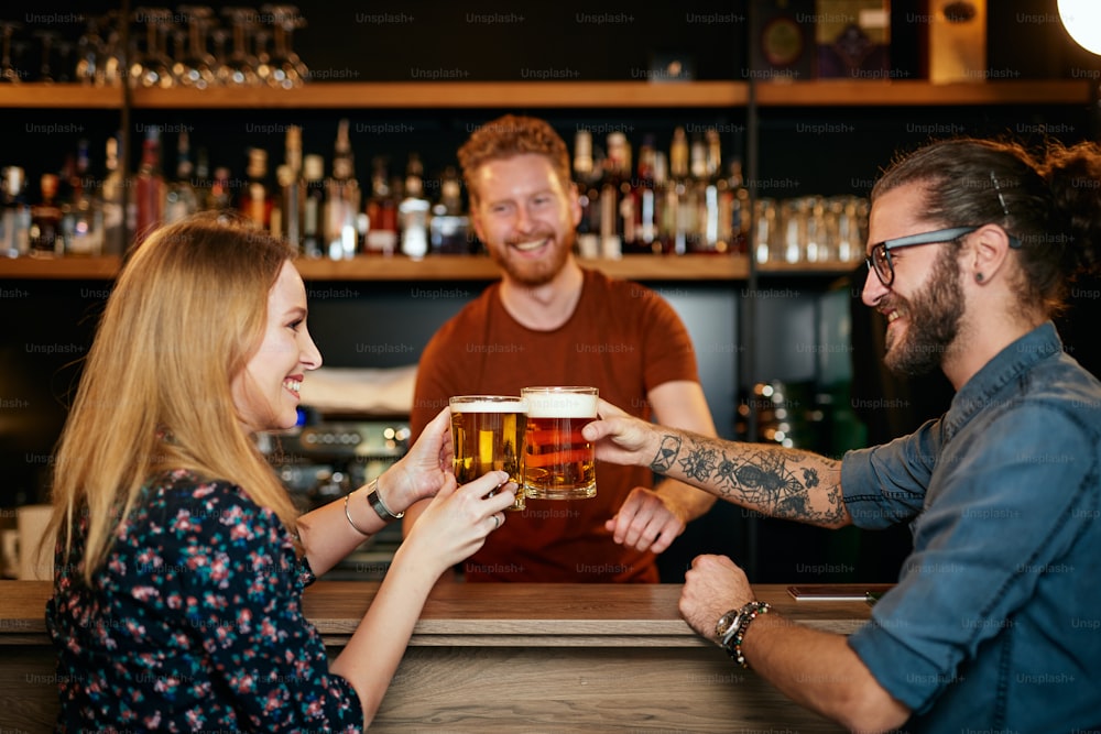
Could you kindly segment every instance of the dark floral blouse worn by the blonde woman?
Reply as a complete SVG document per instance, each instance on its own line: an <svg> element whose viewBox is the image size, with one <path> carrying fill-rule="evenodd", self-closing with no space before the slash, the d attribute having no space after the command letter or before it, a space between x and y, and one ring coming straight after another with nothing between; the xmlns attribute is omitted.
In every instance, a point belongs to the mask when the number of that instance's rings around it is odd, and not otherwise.
<svg viewBox="0 0 1101 734"><path fill-rule="evenodd" d="M57 730L359 731L347 680L302 614L314 581L270 510L240 487L167 473L80 580L84 524L58 547L46 625Z"/></svg>

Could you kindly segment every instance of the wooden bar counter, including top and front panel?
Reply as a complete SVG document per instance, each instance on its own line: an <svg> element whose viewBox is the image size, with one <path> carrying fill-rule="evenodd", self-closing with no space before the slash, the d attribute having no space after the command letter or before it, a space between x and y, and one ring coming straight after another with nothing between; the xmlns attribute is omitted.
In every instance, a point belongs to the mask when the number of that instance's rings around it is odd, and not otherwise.
<svg viewBox="0 0 1101 734"><path fill-rule="evenodd" d="M378 583L319 581L305 612L331 651ZM755 588L791 620L849 634L864 602L794 601ZM0 581L0 731L52 731L51 584ZM678 584L440 584L371 726L378 732L837 732L698 637Z"/></svg>

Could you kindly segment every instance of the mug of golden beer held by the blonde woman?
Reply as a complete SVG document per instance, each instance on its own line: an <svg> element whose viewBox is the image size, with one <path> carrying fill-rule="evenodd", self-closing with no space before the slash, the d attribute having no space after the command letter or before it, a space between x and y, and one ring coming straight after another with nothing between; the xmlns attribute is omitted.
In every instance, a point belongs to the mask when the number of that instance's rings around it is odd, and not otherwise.
<svg viewBox="0 0 1101 734"><path fill-rule="evenodd" d="M488 471L506 471L524 508L524 401L513 395L457 395L450 399L455 478L466 484Z"/></svg>

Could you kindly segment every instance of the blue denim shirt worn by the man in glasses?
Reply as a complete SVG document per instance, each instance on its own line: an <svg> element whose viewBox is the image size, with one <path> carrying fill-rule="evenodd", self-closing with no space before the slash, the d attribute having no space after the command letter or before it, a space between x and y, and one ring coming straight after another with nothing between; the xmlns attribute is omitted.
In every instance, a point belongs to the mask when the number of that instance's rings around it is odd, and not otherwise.
<svg viewBox="0 0 1101 734"><path fill-rule="evenodd" d="M911 732L1101 723L1101 383L1050 322L938 420L850 451L853 523L912 521L898 584L849 645L913 712Z"/></svg>

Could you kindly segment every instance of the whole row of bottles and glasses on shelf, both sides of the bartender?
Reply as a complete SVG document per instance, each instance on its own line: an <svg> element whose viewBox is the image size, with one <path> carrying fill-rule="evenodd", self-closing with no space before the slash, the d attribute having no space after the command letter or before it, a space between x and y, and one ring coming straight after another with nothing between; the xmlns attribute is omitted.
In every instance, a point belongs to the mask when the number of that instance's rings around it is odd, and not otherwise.
<svg viewBox="0 0 1101 734"><path fill-rule="evenodd" d="M759 198L750 216L740 161L732 158L722 169L715 130L689 140L685 129L677 128L668 155L647 135L637 150L634 175L631 160L622 132L611 132L603 150L593 145L589 130L576 132L580 255L752 252L759 262L820 263L849 262L863 252L866 201L861 198ZM303 155L302 129L294 125L286 129L274 185L269 153L259 147L249 150L243 180L231 178L224 166L209 176L204 151L192 161L186 128L177 138L176 162L175 177L167 180L161 171L160 131L146 127L137 175L128 178L119 171L118 142L111 139L106 177L97 182L89 176L88 147L81 142L61 175L42 177L42 196L34 206L24 202L22 171L6 168L0 252L119 254L157 224L203 209L238 210L259 229L293 242L307 258L397 252L421 258L479 248L454 166L439 178L434 201L425 194L424 166L416 153L408 155L404 178L391 177L386 160L375 157L370 187L363 190L356 178L347 120L338 124L327 177L320 155Z"/></svg>

